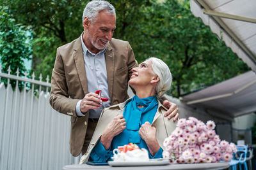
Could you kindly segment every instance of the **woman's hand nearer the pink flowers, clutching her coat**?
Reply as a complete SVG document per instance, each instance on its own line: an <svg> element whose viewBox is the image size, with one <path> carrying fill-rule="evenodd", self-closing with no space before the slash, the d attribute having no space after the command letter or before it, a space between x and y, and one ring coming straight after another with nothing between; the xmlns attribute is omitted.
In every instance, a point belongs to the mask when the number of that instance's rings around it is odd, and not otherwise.
<svg viewBox="0 0 256 170"><path fill-rule="evenodd" d="M149 122L145 122L145 124L141 125L139 134L147 144L150 154L154 157L160 148L156 139L156 127L151 126Z"/></svg>

